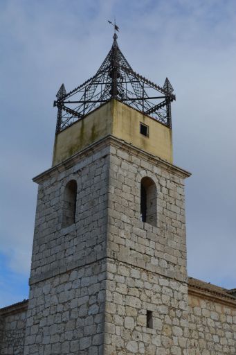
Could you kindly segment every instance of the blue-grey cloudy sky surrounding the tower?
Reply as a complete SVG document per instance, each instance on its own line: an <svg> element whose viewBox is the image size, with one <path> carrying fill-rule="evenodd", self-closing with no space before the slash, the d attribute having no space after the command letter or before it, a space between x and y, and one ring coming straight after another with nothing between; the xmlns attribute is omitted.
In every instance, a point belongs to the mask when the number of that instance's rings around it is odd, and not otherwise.
<svg viewBox="0 0 236 355"><path fill-rule="evenodd" d="M170 79L174 164L188 170L188 275L236 287L236 1L0 0L0 307L28 298L37 184L51 167L53 100L118 44Z"/></svg>

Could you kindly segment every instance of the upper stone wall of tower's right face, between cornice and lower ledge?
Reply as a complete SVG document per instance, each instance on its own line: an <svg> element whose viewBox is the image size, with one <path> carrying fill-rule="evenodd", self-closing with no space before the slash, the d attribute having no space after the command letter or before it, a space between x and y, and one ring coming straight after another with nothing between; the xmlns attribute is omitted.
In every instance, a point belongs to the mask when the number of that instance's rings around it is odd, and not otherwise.
<svg viewBox="0 0 236 355"><path fill-rule="evenodd" d="M183 173L140 151L111 146L108 255L187 282ZM140 218L140 181L157 190L157 225Z"/></svg>

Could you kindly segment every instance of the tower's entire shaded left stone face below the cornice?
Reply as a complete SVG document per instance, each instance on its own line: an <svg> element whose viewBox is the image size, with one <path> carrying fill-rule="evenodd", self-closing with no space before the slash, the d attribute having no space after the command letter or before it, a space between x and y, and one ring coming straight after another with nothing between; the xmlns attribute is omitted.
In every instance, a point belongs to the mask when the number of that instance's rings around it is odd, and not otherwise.
<svg viewBox="0 0 236 355"><path fill-rule="evenodd" d="M24 355L102 354L109 148L77 156L39 182ZM78 184L62 227L64 188Z"/></svg>

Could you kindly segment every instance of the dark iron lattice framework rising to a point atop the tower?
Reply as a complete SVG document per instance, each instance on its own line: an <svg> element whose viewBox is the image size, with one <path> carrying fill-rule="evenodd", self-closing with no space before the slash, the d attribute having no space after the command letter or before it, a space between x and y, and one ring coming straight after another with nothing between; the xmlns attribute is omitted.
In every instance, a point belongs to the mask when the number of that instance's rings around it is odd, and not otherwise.
<svg viewBox="0 0 236 355"><path fill-rule="evenodd" d="M171 128L171 103L175 100L173 87L168 78L160 87L133 71L122 55L117 35L104 62L95 76L66 93L64 84L57 92L56 133L82 119L89 112L111 98L115 98L136 110L152 116Z"/></svg>

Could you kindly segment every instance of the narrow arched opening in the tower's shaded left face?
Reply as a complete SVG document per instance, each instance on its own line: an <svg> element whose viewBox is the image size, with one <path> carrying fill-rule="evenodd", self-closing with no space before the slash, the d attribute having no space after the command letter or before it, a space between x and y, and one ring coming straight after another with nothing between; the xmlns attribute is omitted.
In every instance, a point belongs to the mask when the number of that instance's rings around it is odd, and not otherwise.
<svg viewBox="0 0 236 355"><path fill-rule="evenodd" d="M62 227L68 227L75 223L77 182L71 180L64 189Z"/></svg>

